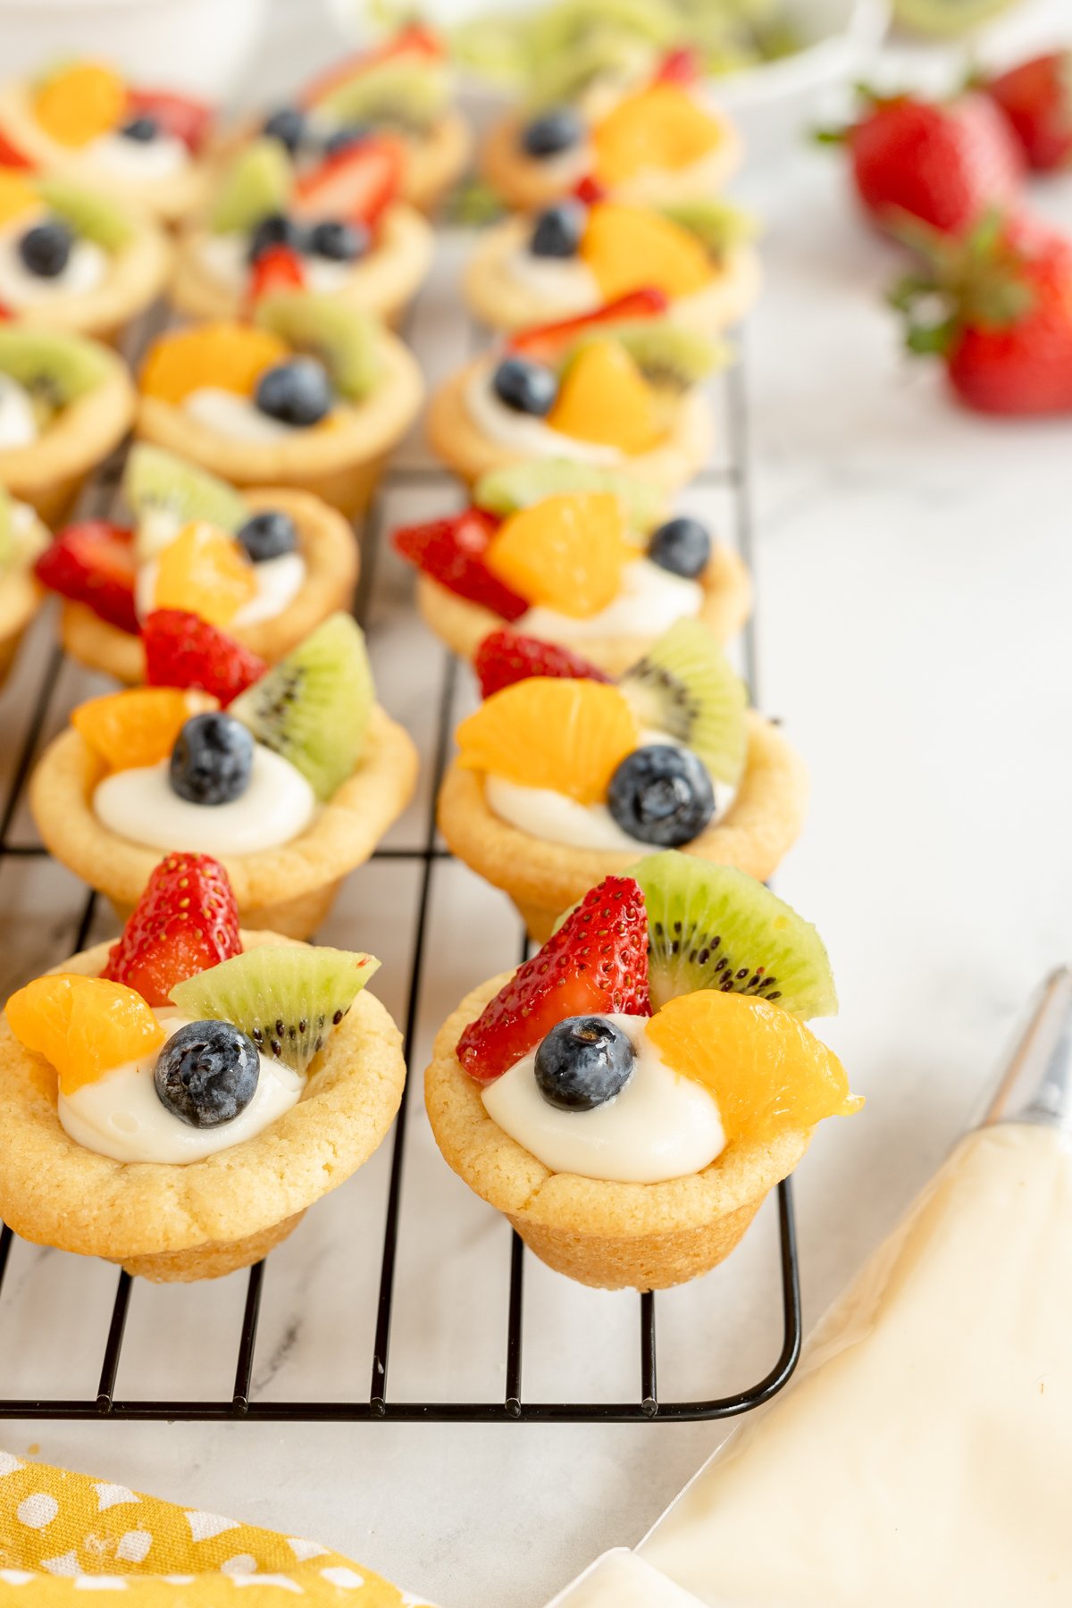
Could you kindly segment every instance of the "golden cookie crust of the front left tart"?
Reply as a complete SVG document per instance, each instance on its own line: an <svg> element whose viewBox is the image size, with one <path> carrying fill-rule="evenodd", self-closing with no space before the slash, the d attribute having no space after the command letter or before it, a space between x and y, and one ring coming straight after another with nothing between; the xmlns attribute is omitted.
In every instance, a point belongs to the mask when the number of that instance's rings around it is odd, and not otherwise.
<svg viewBox="0 0 1072 1608"><path fill-rule="evenodd" d="M283 944L243 933L246 949ZM108 944L58 971L100 974ZM254 1138L183 1166L113 1161L68 1137L56 1074L0 1023L0 1216L24 1240L103 1256L149 1278L249 1265L378 1148L402 1100L402 1036L362 992L313 1063L305 1093ZM281 1230L281 1232L280 1232Z"/></svg>

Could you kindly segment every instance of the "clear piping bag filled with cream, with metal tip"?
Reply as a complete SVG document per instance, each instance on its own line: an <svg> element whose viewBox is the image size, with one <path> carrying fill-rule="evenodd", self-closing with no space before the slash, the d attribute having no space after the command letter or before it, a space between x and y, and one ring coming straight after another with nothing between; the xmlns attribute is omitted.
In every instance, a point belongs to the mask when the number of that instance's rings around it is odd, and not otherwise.
<svg viewBox="0 0 1072 1608"><path fill-rule="evenodd" d="M784 1394L548 1608L1067 1608L1070 1491L1066 966Z"/></svg>

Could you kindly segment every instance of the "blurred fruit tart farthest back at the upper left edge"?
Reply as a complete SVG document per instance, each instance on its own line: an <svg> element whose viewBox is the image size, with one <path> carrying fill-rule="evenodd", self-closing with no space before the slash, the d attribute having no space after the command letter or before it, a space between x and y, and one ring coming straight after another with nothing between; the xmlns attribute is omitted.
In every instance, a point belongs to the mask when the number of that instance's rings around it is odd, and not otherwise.
<svg viewBox="0 0 1072 1608"><path fill-rule="evenodd" d="M8 162L90 185L169 224L204 206L211 127L201 101L137 88L104 61L66 58L0 88Z"/></svg>

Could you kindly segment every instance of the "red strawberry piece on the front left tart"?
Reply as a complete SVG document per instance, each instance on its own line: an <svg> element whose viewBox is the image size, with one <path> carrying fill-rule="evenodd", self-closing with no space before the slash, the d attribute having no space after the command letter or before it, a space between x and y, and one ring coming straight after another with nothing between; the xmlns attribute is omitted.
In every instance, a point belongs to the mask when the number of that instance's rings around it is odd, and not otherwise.
<svg viewBox="0 0 1072 1608"><path fill-rule="evenodd" d="M177 982L241 955L230 878L207 854L169 854L108 954L101 976L166 1005Z"/></svg>

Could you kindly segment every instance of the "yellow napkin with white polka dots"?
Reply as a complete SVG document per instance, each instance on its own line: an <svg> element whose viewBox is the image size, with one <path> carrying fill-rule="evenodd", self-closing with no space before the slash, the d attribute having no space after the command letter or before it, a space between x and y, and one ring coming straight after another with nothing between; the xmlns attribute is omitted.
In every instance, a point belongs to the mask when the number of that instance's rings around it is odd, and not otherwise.
<svg viewBox="0 0 1072 1608"><path fill-rule="evenodd" d="M0 1452L2 1608L431 1608L315 1540Z"/></svg>

